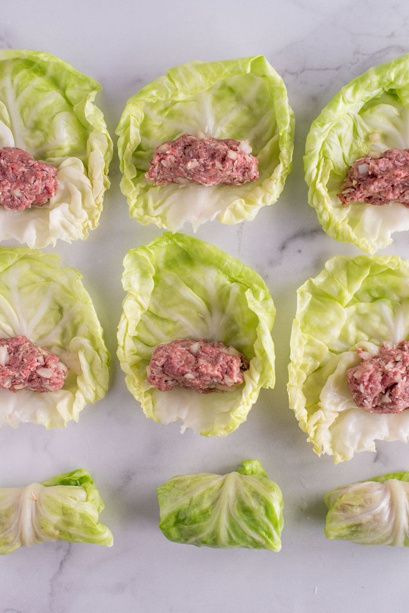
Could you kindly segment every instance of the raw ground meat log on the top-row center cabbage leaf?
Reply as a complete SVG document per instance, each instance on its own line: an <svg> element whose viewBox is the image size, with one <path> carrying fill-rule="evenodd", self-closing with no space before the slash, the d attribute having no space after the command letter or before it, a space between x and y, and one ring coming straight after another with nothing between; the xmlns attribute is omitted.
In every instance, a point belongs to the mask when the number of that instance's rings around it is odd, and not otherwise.
<svg viewBox="0 0 409 613"><path fill-rule="evenodd" d="M145 176L154 185L242 185L258 179L258 160L250 153L247 140L202 139L184 134L156 148Z"/></svg>

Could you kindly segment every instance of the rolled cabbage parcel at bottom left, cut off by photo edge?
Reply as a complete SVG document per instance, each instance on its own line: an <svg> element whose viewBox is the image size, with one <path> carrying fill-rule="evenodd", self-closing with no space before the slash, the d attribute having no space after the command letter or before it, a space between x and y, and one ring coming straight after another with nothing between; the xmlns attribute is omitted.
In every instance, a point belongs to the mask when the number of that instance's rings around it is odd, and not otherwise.
<svg viewBox="0 0 409 613"><path fill-rule="evenodd" d="M0 555L47 541L111 547L111 531L98 523L104 506L81 469L26 487L0 487Z"/></svg>

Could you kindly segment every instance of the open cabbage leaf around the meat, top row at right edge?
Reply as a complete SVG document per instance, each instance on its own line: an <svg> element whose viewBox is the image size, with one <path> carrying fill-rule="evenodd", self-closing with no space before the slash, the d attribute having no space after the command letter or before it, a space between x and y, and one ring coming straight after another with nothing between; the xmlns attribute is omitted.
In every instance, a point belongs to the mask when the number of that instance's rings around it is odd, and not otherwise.
<svg viewBox="0 0 409 613"><path fill-rule="evenodd" d="M375 253L392 232L409 229L403 204L343 206L337 198L353 162L394 148L409 148L409 55L356 77L312 123L304 168L309 204L327 234Z"/></svg>

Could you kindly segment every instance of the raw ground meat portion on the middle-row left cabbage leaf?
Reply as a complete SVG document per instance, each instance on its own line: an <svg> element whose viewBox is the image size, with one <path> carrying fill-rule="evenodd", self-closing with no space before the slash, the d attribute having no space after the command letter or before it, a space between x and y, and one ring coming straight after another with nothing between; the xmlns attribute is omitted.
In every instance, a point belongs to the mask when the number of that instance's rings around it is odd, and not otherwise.
<svg viewBox="0 0 409 613"><path fill-rule="evenodd" d="M0 387L17 392L54 392L64 385L66 365L27 337L0 338Z"/></svg>

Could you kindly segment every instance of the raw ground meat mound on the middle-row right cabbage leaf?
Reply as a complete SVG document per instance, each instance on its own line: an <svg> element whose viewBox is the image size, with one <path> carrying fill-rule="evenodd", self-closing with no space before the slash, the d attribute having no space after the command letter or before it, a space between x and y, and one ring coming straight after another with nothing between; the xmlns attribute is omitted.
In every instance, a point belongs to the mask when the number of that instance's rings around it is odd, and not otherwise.
<svg viewBox="0 0 409 613"><path fill-rule="evenodd" d="M356 406L376 413L402 413L409 408L409 342L400 342L396 349L384 344L375 357L357 351L361 364L347 370Z"/></svg>

